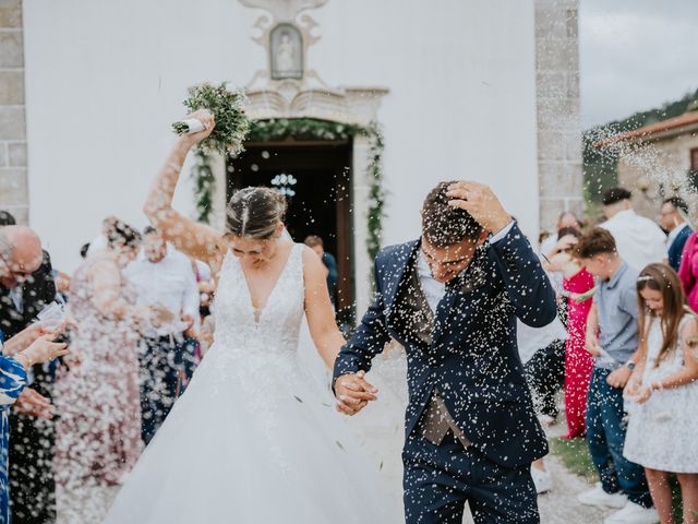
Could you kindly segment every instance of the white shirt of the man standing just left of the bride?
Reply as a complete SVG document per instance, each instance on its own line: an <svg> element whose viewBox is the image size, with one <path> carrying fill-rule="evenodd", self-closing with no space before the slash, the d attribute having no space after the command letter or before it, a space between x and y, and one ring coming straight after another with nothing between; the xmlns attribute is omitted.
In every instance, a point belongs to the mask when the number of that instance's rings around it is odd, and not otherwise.
<svg viewBox="0 0 698 524"><path fill-rule="evenodd" d="M161 305L174 317L172 323L157 329L157 336L182 333L182 314L192 317L194 330L198 331L198 286L186 255L168 246L163 260L151 262L147 258L139 258L129 264L125 275L136 289L139 306Z"/></svg>

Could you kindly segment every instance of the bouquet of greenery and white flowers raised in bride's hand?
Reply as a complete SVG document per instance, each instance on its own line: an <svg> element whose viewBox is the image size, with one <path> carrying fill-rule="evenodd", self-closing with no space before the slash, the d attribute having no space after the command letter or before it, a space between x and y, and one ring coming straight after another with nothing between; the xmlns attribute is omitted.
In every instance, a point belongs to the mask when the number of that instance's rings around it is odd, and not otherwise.
<svg viewBox="0 0 698 524"><path fill-rule="evenodd" d="M184 100L186 109L207 109L216 119L213 132L200 144L202 150L233 156L243 150L242 142L250 130L250 120L242 108L243 102L244 95L240 91L230 91L226 82L220 85L203 83L189 88L189 97ZM196 133L203 129L196 119L172 124L177 134Z"/></svg>

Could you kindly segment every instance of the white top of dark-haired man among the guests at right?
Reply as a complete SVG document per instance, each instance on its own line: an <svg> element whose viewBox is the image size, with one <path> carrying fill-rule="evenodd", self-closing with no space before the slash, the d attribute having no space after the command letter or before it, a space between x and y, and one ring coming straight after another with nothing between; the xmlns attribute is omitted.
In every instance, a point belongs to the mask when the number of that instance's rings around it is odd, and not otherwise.
<svg viewBox="0 0 698 524"><path fill-rule="evenodd" d="M637 271L666 258L666 236L662 229L633 210L619 211L600 227L613 235L618 254Z"/></svg>

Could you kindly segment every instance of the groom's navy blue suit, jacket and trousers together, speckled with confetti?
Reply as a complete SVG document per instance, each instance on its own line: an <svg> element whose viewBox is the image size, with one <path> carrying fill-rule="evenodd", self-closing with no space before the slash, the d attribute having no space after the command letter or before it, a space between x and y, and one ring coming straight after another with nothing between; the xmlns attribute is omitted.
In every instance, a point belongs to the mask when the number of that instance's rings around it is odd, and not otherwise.
<svg viewBox="0 0 698 524"><path fill-rule="evenodd" d="M378 253L375 301L337 357L334 377L369 371L390 338L405 346L407 522L460 522L466 499L477 522L538 522L528 468L547 453L547 443L524 378L516 318L531 326L552 322L552 286L515 224L498 242L478 248L470 265L446 285L431 344L421 344L395 314L419 249L420 241L413 241ZM455 439L436 446L416 431L435 390L472 442L468 449Z"/></svg>

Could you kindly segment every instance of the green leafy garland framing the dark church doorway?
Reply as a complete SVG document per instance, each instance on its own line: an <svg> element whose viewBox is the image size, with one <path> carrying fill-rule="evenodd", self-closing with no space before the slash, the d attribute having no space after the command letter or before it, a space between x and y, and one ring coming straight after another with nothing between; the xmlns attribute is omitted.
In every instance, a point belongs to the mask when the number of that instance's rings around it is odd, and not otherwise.
<svg viewBox="0 0 698 524"><path fill-rule="evenodd" d="M385 190L383 188L383 151L385 142L377 122L369 126L332 122L312 118L280 118L253 121L248 133L248 142L280 142L288 139L303 140L350 140L357 135L369 141L369 212L366 214L366 252L371 260L381 249L383 240L383 218L385 217ZM208 224L215 178L209 157L201 150L195 151L196 163L192 170L194 194L200 222Z"/></svg>

